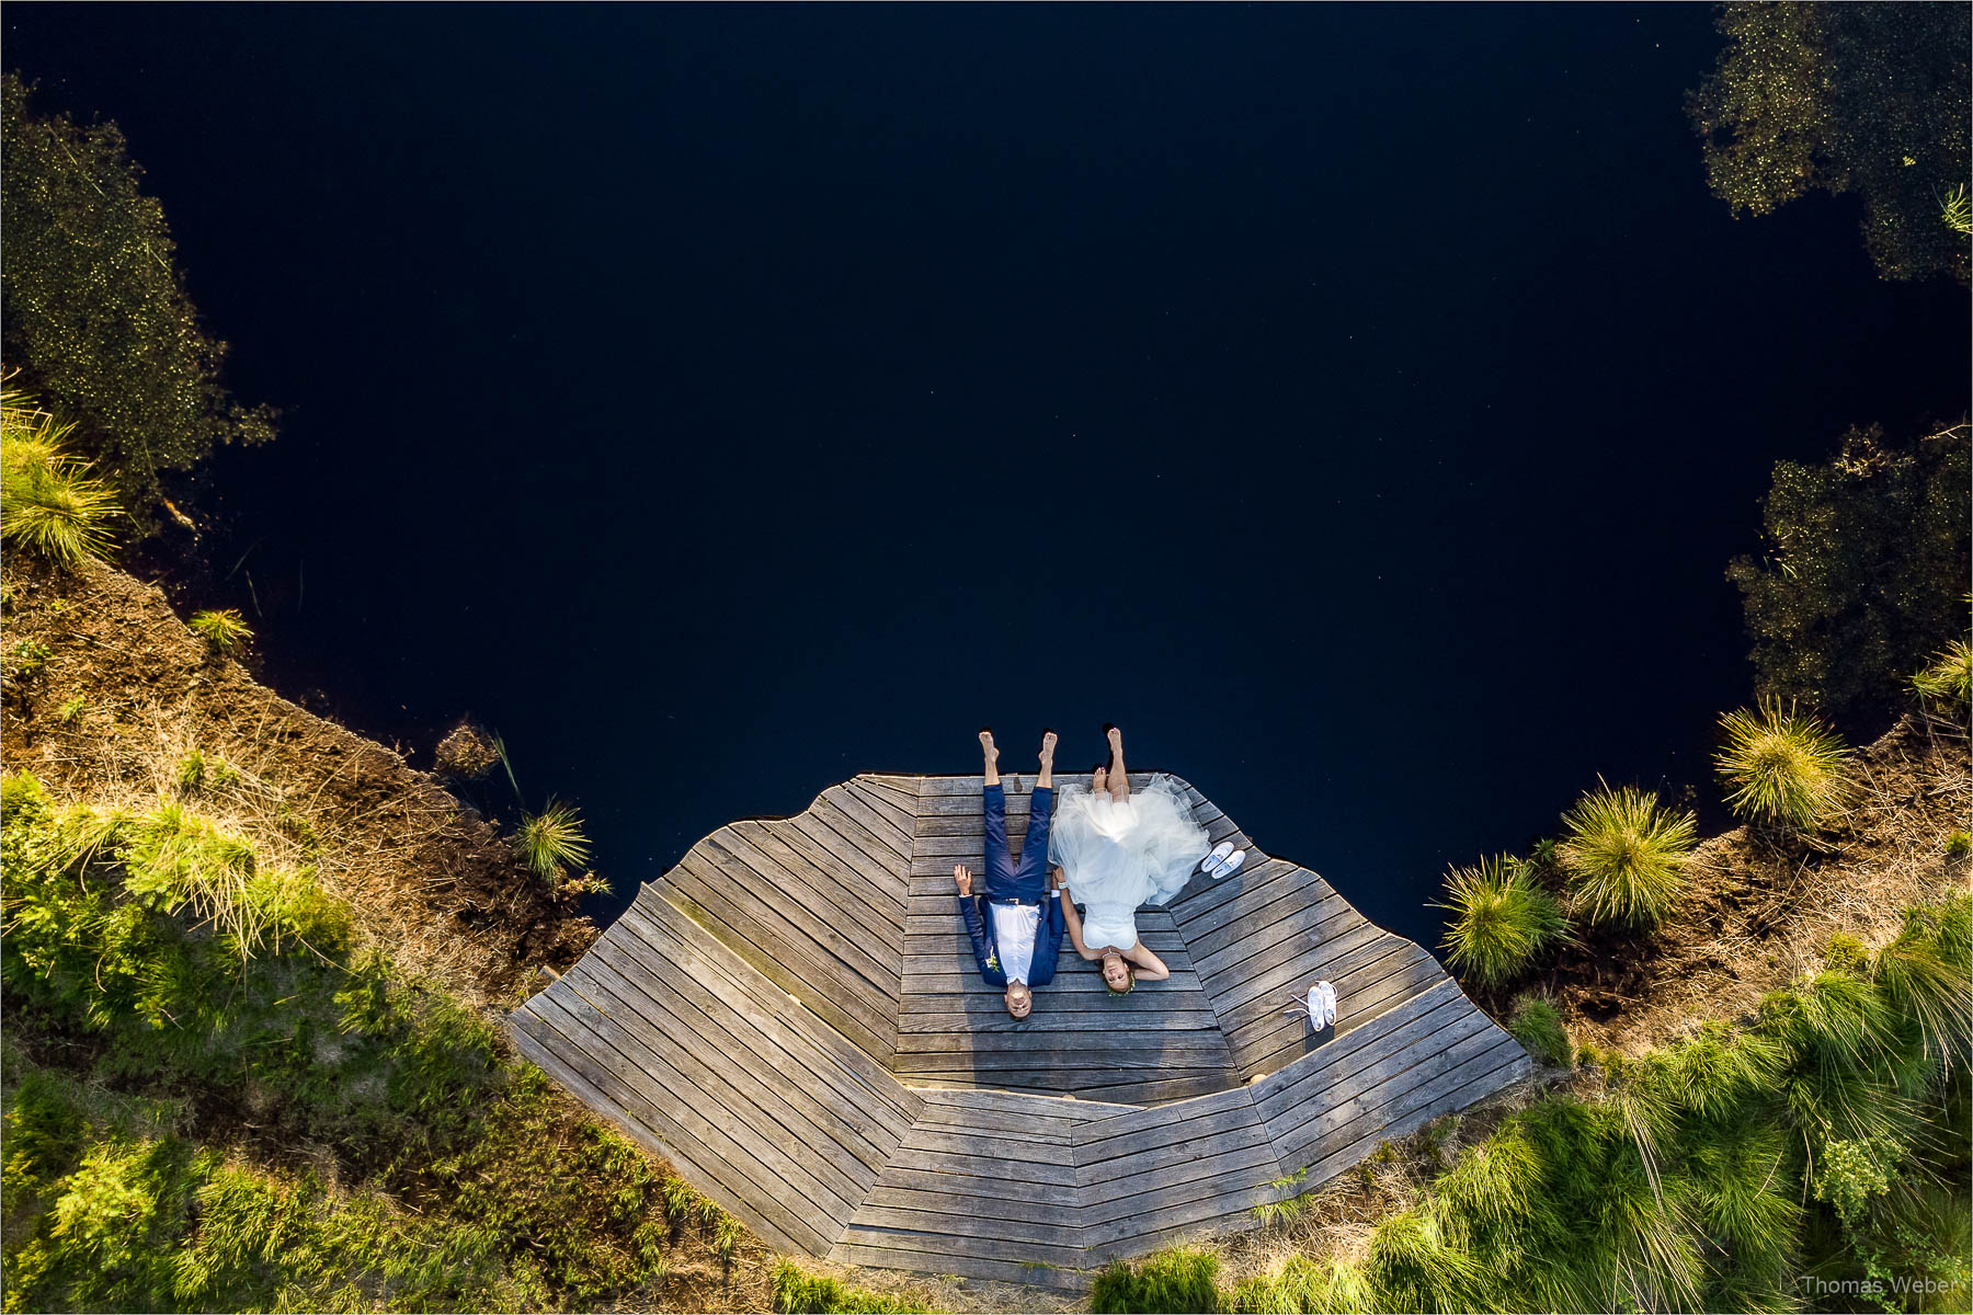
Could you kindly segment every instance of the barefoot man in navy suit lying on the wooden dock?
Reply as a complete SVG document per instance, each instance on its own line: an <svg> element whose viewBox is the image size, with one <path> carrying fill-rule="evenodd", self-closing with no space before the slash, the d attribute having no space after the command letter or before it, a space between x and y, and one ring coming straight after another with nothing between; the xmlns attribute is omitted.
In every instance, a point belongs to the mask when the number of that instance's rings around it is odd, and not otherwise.
<svg viewBox="0 0 1973 1315"><path fill-rule="evenodd" d="M981 731L986 751L986 881L973 893L973 869L953 865L959 887L959 917L973 936L973 958L988 984L1006 988L1006 1011L1028 1017L1034 988L1056 978L1061 954L1061 891L1048 875L1048 818L1056 806L1056 731L1042 733L1042 773L1034 779L1028 812L1028 840L1020 846L1020 867L1006 848L1006 791L1000 789L1000 749L992 731Z"/></svg>

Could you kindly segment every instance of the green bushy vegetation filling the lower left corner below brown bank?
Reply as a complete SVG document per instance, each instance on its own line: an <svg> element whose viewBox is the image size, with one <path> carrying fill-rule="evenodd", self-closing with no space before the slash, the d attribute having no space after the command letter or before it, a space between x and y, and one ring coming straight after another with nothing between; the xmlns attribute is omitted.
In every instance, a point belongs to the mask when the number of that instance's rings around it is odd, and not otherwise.
<svg viewBox="0 0 1973 1315"><path fill-rule="evenodd" d="M185 802L110 814L0 779L8 1045L81 1065L6 1055L8 1309L649 1307L667 1224L738 1252L736 1220L477 1013L353 952L306 873L243 958L197 901L266 875ZM249 1143L326 1155L341 1187L201 1145L243 1110Z"/></svg>

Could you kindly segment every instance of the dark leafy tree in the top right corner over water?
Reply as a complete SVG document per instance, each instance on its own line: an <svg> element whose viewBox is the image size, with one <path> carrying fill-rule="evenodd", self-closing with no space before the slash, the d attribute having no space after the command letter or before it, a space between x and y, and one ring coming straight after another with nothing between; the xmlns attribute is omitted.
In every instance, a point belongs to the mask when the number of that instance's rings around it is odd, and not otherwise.
<svg viewBox="0 0 1973 1315"><path fill-rule="evenodd" d="M1732 213L1807 191L1855 191L1884 278L1949 272L1967 241L1947 219L1967 183L1965 4L1726 4L1718 67L1687 112L1707 179Z"/></svg>

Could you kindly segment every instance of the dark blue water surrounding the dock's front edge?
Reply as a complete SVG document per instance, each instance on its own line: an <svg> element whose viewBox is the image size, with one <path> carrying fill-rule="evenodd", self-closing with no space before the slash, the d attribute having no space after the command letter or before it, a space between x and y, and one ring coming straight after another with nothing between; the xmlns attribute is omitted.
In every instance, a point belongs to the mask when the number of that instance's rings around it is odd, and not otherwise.
<svg viewBox="0 0 1973 1315"><path fill-rule="evenodd" d="M1647 8L12 4L231 381L276 684L475 712L620 891L1119 722L1369 917L1711 798L1778 457L1967 408L1851 199L1732 221ZM249 593L247 578L253 580Z"/></svg>

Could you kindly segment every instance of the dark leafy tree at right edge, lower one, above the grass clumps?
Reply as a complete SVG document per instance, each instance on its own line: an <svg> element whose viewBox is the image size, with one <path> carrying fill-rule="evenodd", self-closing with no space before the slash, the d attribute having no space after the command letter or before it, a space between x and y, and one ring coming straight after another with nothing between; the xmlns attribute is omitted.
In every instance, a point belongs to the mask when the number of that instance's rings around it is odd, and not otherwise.
<svg viewBox="0 0 1973 1315"><path fill-rule="evenodd" d="M1726 570L1762 698L1837 718L1898 710L1910 672L1965 637L1969 481L1963 424L1916 444L1851 430L1825 465L1776 463L1768 552Z"/></svg>

